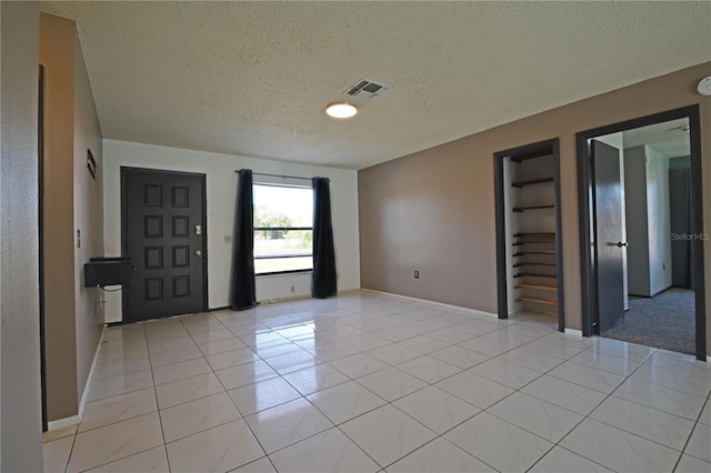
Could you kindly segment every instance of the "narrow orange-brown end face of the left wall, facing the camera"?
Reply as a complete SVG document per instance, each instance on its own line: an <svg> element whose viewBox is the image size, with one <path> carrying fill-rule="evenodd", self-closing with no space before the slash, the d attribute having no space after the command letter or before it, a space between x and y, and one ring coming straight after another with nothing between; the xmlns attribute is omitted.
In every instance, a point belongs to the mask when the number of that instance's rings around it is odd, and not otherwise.
<svg viewBox="0 0 711 473"><path fill-rule="evenodd" d="M74 326L74 31L40 16L44 66L44 321L50 421L79 412Z"/></svg>

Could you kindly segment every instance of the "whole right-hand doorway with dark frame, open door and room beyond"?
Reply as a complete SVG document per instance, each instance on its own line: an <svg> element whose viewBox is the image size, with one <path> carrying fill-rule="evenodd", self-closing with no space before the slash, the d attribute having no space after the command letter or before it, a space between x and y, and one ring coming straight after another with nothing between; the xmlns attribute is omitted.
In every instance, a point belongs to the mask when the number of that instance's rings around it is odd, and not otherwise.
<svg viewBox="0 0 711 473"><path fill-rule="evenodd" d="M705 360L699 132L690 107L578 134L583 333Z"/></svg>

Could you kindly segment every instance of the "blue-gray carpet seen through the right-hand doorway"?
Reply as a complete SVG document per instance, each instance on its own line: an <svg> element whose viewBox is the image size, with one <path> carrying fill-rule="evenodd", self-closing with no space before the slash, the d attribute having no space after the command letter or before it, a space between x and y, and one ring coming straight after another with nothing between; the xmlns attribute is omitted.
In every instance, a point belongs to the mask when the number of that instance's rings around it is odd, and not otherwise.
<svg viewBox="0 0 711 473"><path fill-rule="evenodd" d="M630 296L624 323L602 336L694 354L694 292L672 288L654 298Z"/></svg>

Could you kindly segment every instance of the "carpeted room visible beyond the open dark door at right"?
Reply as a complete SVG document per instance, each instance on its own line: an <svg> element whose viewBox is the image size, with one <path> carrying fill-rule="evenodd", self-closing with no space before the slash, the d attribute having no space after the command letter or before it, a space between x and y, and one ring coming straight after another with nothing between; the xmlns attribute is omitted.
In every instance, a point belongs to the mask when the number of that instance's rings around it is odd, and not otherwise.
<svg viewBox="0 0 711 473"><path fill-rule="evenodd" d="M595 140L618 150L623 245L621 323L600 336L695 353L689 119Z"/></svg>

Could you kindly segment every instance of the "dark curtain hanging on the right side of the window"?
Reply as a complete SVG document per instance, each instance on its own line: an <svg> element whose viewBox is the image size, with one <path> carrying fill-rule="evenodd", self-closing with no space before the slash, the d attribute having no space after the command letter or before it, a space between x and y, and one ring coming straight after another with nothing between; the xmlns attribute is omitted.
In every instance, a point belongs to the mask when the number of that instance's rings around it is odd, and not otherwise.
<svg viewBox="0 0 711 473"><path fill-rule="evenodd" d="M336 254L331 227L331 192L328 178L313 178L313 280L311 295L336 295Z"/></svg>

